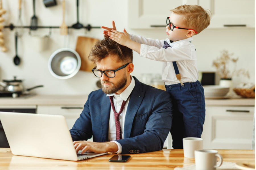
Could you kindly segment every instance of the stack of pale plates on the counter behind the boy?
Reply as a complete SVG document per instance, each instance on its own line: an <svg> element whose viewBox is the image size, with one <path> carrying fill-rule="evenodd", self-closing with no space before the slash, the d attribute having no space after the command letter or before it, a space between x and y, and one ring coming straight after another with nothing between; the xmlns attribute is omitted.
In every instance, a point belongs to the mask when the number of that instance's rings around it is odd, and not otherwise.
<svg viewBox="0 0 256 170"><path fill-rule="evenodd" d="M229 92L228 86L208 85L203 86L205 98L222 98Z"/></svg>

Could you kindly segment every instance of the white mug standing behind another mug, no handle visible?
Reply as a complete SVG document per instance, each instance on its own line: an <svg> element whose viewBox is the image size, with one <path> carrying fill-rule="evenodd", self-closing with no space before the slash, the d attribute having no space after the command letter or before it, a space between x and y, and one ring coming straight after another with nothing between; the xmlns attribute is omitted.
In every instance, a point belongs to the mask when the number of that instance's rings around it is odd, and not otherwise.
<svg viewBox="0 0 256 170"><path fill-rule="evenodd" d="M199 137L183 138L183 152L186 158L195 158L195 150L203 149L203 139Z"/></svg>

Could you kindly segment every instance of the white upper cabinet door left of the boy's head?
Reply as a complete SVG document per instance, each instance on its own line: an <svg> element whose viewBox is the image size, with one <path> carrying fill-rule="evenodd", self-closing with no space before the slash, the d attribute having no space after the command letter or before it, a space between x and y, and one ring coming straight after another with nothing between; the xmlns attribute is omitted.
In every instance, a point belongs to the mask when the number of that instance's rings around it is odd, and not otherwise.
<svg viewBox="0 0 256 170"><path fill-rule="evenodd" d="M197 0L129 0L128 25L130 28L166 27L170 9L184 4L197 4Z"/></svg>

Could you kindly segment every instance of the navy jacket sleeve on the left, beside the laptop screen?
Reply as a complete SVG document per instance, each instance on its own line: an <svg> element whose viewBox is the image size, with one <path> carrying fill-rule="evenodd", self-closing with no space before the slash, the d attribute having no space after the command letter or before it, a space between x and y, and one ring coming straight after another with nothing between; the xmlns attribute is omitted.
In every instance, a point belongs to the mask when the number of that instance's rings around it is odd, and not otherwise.
<svg viewBox="0 0 256 170"><path fill-rule="evenodd" d="M76 120L73 128L70 129L73 141L88 140L92 138L92 123L89 109L90 96L91 93L88 95L88 99L80 117Z"/></svg>

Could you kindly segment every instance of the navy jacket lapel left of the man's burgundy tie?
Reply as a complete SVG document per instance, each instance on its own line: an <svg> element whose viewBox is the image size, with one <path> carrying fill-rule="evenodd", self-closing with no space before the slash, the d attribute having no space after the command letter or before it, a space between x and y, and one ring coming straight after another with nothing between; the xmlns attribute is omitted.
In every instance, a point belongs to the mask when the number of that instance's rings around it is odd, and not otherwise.
<svg viewBox="0 0 256 170"><path fill-rule="evenodd" d="M103 142L108 141L109 118L110 118L110 100L109 100L109 97L103 96L103 100L100 108L100 121L101 121Z"/></svg>

